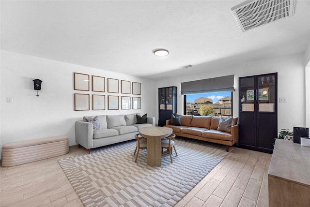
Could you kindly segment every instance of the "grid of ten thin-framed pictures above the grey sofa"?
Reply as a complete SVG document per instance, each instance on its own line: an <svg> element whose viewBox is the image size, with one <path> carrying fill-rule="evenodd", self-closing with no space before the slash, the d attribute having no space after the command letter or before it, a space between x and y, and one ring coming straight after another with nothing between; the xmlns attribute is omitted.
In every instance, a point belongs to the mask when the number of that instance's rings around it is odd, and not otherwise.
<svg viewBox="0 0 310 207"><path fill-rule="evenodd" d="M74 73L74 90L75 111L141 109L138 82Z"/></svg>

